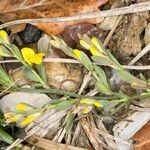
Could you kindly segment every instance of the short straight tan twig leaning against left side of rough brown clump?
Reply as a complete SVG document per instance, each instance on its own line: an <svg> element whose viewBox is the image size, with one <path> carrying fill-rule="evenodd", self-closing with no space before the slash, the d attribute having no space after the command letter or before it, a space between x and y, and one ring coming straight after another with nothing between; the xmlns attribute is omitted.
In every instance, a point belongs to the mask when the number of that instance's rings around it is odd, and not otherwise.
<svg viewBox="0 0 150 150"><path fill-rule="evenodd" d="M116 23L114 24L113 28L111 29L111 31L109 32L109 34L107 35L105 41L104 41L104 46L106 47L112 37L112 35L114 34L116 28L118 27L118 24L120 23L121 19L123 18L123 16L119 16Z"/></svg>

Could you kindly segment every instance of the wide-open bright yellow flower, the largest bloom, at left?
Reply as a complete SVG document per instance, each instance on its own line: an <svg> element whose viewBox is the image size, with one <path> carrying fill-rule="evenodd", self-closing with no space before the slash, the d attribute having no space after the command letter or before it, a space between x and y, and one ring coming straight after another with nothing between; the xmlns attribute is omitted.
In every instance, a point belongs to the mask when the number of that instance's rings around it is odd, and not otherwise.
<svg viewBox="0 0 150 150"><path fill-rule="evenodd" d="M31 65L32 63L41 64L43 60L44 53L36 54L31 48L23 48L21 49L22 56L24 60Z"/></svg>

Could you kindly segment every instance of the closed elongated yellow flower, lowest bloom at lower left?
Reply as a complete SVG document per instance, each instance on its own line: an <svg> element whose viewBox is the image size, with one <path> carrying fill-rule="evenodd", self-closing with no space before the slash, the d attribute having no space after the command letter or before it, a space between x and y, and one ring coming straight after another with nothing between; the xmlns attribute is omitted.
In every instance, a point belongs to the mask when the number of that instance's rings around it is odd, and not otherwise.
<svg viewBox="0 0 150 150"><path fill-rule="evenodd" d="M25 125L31 123L33 120L37 119L37 118L40 117L40 116L41 116L41 113L40 113L40 112L35 113L35 114L32 114L32 115L28 116L25 120L23 120L23 121L20 123L20 125L21 125L21 126L25 126Z"/></svg>

